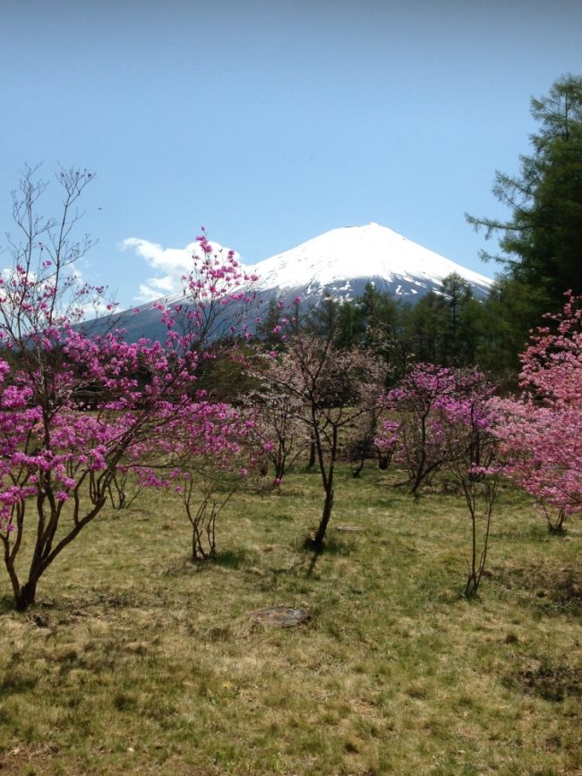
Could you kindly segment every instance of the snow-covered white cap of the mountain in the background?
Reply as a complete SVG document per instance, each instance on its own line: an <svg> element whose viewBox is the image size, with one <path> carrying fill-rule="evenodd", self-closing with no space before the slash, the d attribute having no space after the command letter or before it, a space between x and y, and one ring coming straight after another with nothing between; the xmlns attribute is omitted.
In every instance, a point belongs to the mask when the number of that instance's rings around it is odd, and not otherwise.
<svg viewBox="0 0 582 776"><path fill-rule="evenodd" d="M375 281L379 290L392 294L423 294L432 288L439 290L443 277L453 272L464 277L477 295L487 294L492 284L488 277L375 223L332 229L260 261L252 271L260 277L263 289L303 287L321 293L325 287L339 296L350 295L341 292L357 280Z"/></svg>

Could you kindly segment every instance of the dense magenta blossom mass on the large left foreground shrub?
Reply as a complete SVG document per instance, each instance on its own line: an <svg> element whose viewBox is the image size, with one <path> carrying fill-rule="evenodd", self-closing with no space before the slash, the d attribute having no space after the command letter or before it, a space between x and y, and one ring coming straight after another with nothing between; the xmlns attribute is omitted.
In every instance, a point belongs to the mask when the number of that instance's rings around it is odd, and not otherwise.
<svg viewBox="0 0 582 776"><path fill-rule="evenodd" d="M54 362L7 371L1 362L0 514L13 527L14 506L36 494L64 502L91 473L113 470L189 403L193 358L158 343L127 344L115 335L90 340L69 330ZM44 355L50 351L43 348ZM140 379L140 375L143 379ZM91 391L89 388L94 388ZM85 395L94 412L83 410Z"/></svg>

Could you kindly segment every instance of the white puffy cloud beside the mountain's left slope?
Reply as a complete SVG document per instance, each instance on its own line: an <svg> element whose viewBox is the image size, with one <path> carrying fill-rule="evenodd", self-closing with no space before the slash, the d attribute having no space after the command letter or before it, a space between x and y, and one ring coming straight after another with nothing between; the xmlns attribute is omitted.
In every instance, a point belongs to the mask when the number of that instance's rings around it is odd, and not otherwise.
<svg viewBox="0 0 582 776"><path fill-rule="evenodd" d="M227 253L219 243L210 243L215 253ZM121 243L122 251L133 250L141 259L145 259L156 273L141 283L136 302L152 302L160 296L179 294L184 286L182 277L193 270L193 256L201 258L199 243L188 243L184 248L164 248L158 243L150 243L141 237L128 237ZM240 257L235 253L235 258Z"/></svg>

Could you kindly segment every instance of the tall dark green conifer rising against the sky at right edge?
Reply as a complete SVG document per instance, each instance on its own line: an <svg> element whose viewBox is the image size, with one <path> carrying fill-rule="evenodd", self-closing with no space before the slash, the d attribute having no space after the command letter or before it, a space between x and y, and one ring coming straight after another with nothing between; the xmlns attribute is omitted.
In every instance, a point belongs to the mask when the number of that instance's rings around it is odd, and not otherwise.
<svg viewBox="0 0 582 776"><path fill-rule="evenodd" d="M532 98L531 114L539 124L531 153L520 158L519 175L498 172L492 189L510 217L467 216L486 237L501 235L502 255L482 257L503 264L493 303L502 301L511 349L543 312L561 309L566 291L582 293L582 77L555 81L546 97Z"/></svg>

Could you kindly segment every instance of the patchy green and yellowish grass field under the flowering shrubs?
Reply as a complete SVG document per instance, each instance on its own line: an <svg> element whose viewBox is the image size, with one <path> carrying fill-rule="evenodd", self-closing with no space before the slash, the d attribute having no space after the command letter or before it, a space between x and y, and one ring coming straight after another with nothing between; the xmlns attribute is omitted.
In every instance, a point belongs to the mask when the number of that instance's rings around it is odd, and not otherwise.
<svg viewBox="0 0 582 776"><path fill-rule="evenodd" d="M188 559L177 499L108 509L0 610L2 774L582 774L582 524L504 490L466 601L462 499L339 470L327 551L315 474L219 517ZM362 529L339 531L338 526ZM294 628L253 616L310 611Z"/></svg>

